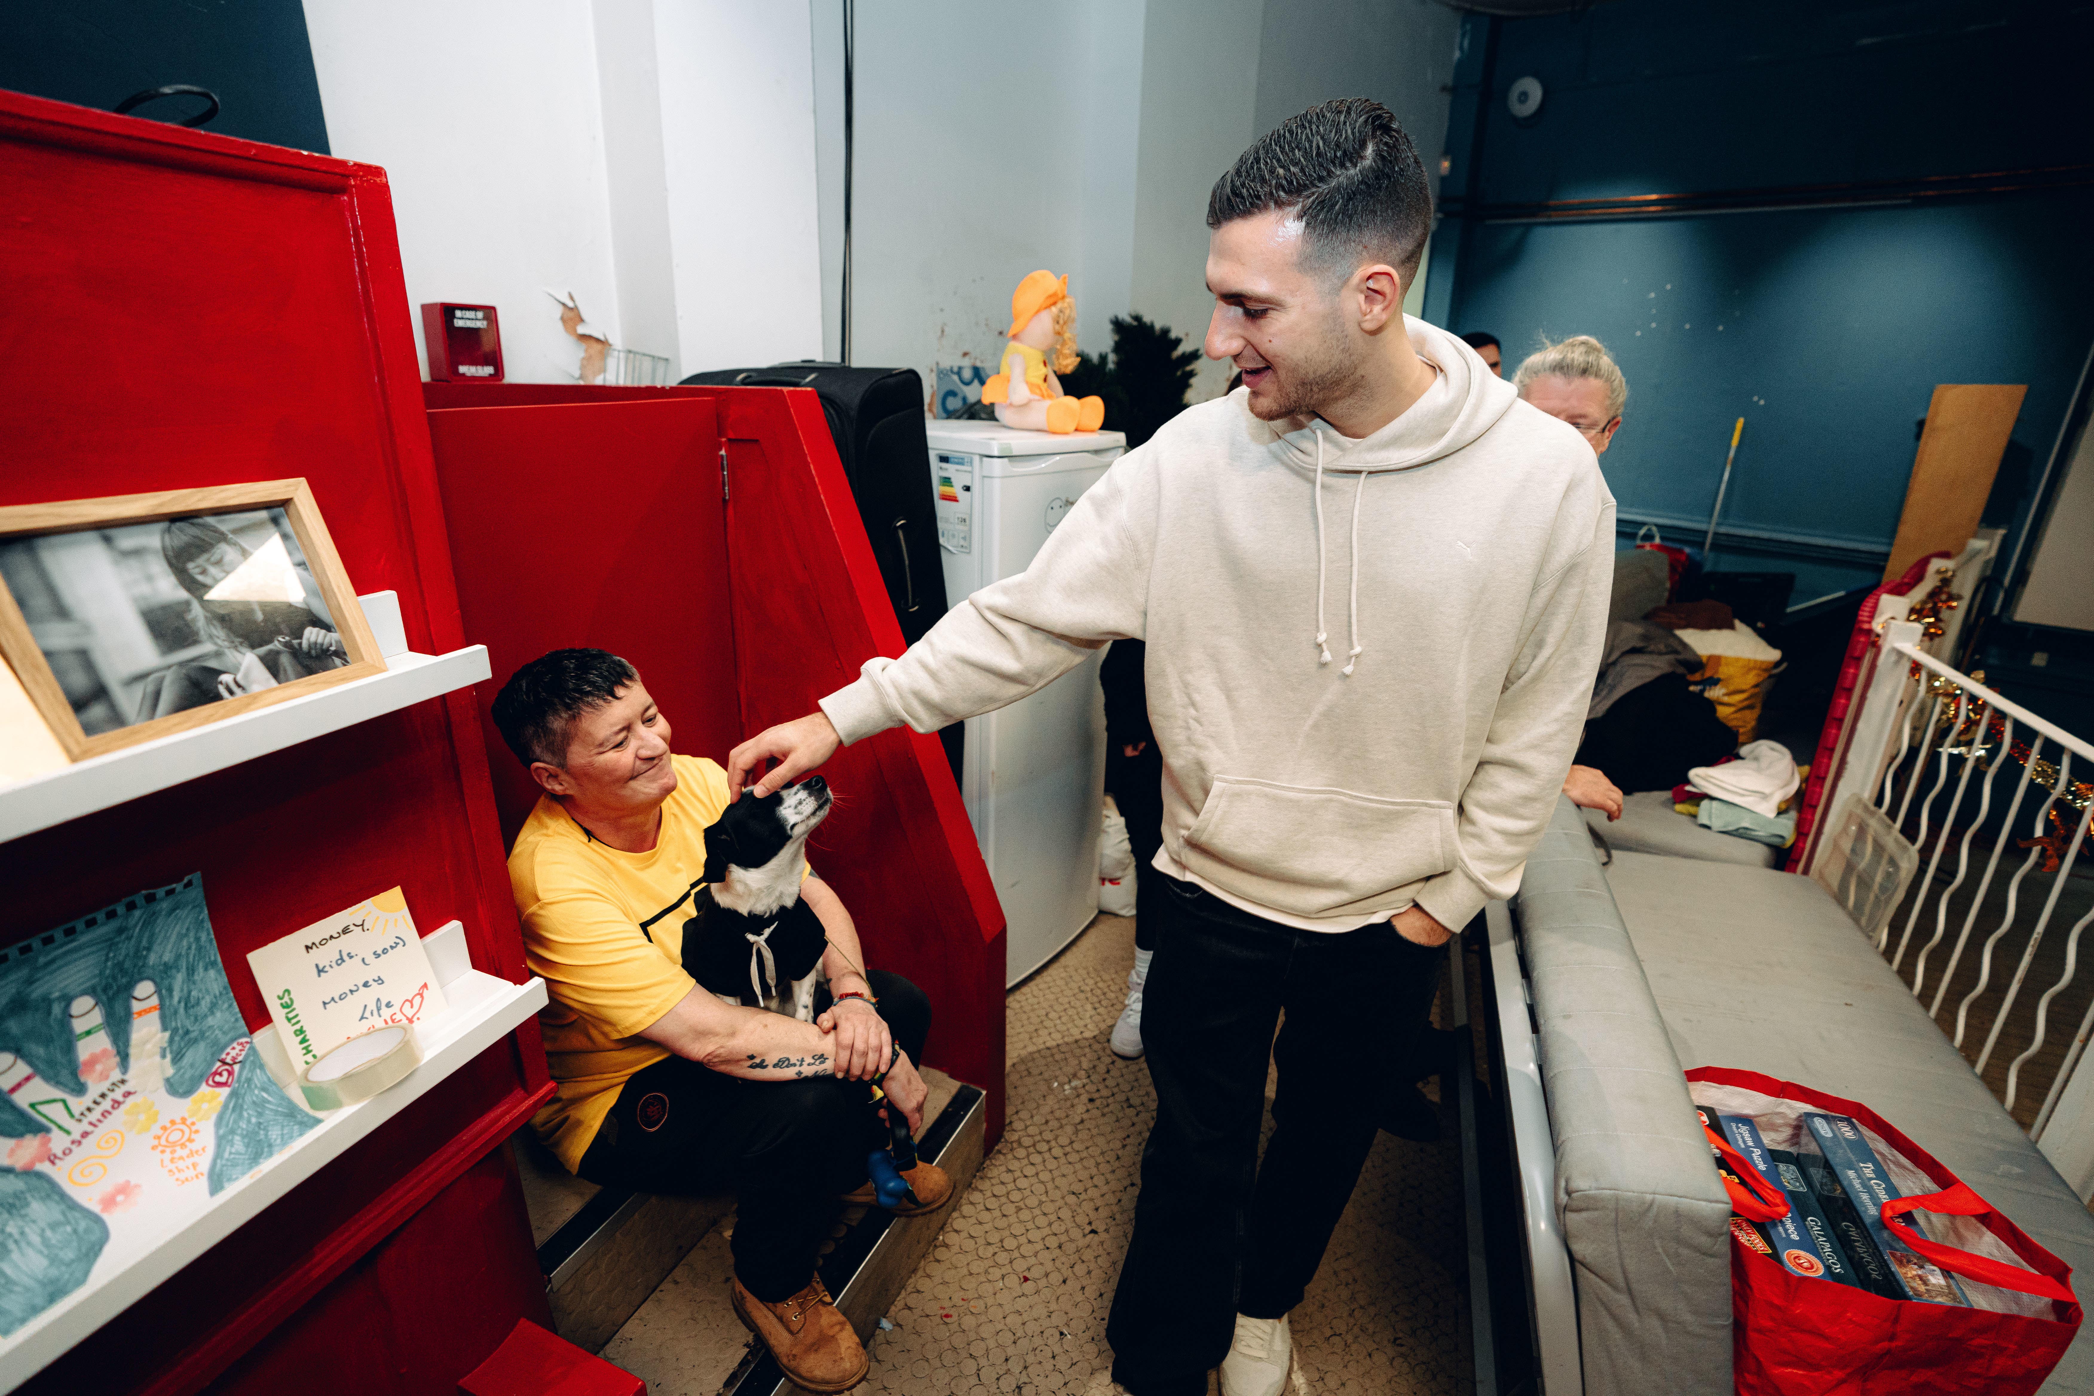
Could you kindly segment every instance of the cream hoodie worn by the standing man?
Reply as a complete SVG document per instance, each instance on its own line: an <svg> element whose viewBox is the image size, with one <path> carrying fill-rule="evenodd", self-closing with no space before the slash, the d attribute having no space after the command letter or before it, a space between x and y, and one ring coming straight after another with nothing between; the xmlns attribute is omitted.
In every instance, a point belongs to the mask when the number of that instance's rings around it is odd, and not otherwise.
<svg viewBox="0 0 2094 1396"><path fill-rule="evenodd" d="M1591 699L1614 498L1575 429L1405 329L1439 377L1403 416L1353 442L1244 391L1187 408L1022 576L825 697L836 730L930 733L1139 638L1158 869L1315 931L1510 896Z"/></svg>

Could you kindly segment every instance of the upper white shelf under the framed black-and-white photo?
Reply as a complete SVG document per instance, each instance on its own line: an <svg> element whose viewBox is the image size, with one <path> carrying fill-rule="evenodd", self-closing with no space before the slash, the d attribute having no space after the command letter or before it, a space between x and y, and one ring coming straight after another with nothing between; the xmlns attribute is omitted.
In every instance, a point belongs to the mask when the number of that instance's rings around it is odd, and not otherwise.
<svg viewBox="0 0 2094 1396"><path fill-rule="evenodd" d="M366 613L377 609L373 603L379 596L392 601L389 592L364 596ZM467 645L448 655L389 653L383 674L0 785L0 843L469 689L488 676L486 645Z"/></svg>

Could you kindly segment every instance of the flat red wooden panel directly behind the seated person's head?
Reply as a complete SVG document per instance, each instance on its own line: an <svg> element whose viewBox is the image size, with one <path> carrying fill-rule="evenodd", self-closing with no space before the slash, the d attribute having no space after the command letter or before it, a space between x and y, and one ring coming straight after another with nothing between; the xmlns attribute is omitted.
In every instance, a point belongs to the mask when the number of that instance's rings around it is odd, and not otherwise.
<svg viewBox="0 0 2094 1396"><path fill-rule="evenodd" d="M473 385L488 387L488 385ZM486 710L524 663L588 645L630 659L689 756L741 739L712 400L431 412L503 841L538 787Z"/></svg>

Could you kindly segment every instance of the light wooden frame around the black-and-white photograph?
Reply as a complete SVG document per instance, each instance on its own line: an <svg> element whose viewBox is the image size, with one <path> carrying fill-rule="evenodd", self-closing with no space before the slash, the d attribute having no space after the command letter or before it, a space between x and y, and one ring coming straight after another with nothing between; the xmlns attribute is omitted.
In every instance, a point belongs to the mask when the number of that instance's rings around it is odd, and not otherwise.
<svg viewBox="0 0 2094 1396"><path fill-rule="evenodd" d="M10 544L19 544L31 538L50 538L61 534L82 534L96 530L126 530L130 525L153 525L172 523L176 519L207 519L211 515L255 515L281 511L289 523L291 534L297 540L302 559L289 557L287 550L276 553L295 567L304 561L304 576L310 576L318 588L318 599L325 605L327 615L316 620L331 620L333 632L339 636L341 653L335 659L346 659L337 668L327 668L322 672L304 674L297 678L279 678L270 674L274 686L262 686L260 691L237 691L232 697L218 697L211 701L199 701L197 705L182 707L178 712L168 712L161 716L140 716L134 714L130 722L121 722L107 730L88 733L82 726L80 716L73 710L73 701L67 697L67 689L59 674L52 670L50 657L44 645L38 640L31 624L0 580L0 655L13 666L15 674L21 678L29 701L36 705L44 724L50 726L52 737L57 737L59 747L65 749L67 760L86 760L90 756L103 756L107 751L117 751L121 747L138 745L140 741L153 741L155 737L168 737L174 733L186 733L211 722L222 722L224 718L239 716L243 712L253 712L255 707L268 707L270 703L283 703L285 699L302 697L306 693L316 693L335 684L354 682L358 678L369 678L373 674L385 672L385 659L379 655L377 640L371 634L371 626L364 620L362 605L356 601L356 588L350 586L350 578L341 567L341 555L335 553L333 540L327 536L327 523L320 519L320 511L314 504L312 490L304 479L270 479L247 486L211 486L203 490L161 490L155 494L117 494L109 498L92 500L57 500L50 504L13 504L0 506L0 550ZM274 519L272 519L274 523ZM251 525L258 527L258 525ZM220 530L224 532L224 530ZM172 534L168 534L172 536ZM281 530L279 530L281 536ZM230 536L228 536L230 538ZM107 542L107 540L105 540ZM113 542L109 548L113 550ZM245 550L245 544L241 544ZM268 544L264 544L268 548ZM132 544L132 553L140 548ZM163 546L165 550L165 546ZM247 553L251 555L251 550ZM184 590L193 592L191 582L182 582L172 571L172 561L161 557L134 559L134 567L151 569L153 565L168 567L170 580L178 582ZM276 567L283 573L283 567ZM195 576L195 573L191 573ZM308 592L310 596L310 592ZM136 592L128 594L130 603L136 607ZM214 601L203 596L193 609L201 615L201 603ZM168 603L174 605L174 603ZM159 609L165 609L159 607ZM312 607L306 607L308 611ZM253 603L253 615L262 622L264 611L260 603ZM281 613L270 613L281 615ZM121 617L119 617L121 620ZM136 617L134 617L136 620ZM101 624L98 620L82 622L86 626ZM142 624L142 622L136 622ZM291 636L299 638L299 636ZM281 649L281 647L270 647ZM59 651L71 655L73 651ZM82 651L86 653L86 651ZM188 655L182 659L180 655ZM226 647L211 647L205 632L197 632L197 643L186 651L176 651L163 668L138 670L132 674L134 682L151 684L153 678L161 678L161 689L168 686L168 674L174 670L191 670L184 680L191 684L201 682L214 672L232 674L232 689L243 689L241 678L249 670L226 670L224 663L230 659L232 651ZM279 655L279 663L289 663L289 668L299 668L308 661L289 661L289 651ZM247 653L247 661L260 663L253 651ZM109 689L109 676L101 674L96 682L103 682L107 691L107 701L111 712L119 712L121 703L117 693ZM251 682L251 680L249 680ZM224 691L226 684L220 684ZM103 714L107 718L107 714ZM107 726L98 720L96 726Z"/></svg>

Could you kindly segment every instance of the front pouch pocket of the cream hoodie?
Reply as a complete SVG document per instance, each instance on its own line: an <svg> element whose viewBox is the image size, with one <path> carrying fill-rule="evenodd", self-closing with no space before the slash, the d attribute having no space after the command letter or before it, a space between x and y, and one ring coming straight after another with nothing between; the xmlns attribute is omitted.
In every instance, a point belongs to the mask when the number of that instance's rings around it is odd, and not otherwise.
<svg viewBox="0 0 2094 1396"><path fill-rule="evenodd" d="M1261 906L1326 917L1453 866L1453 804L1215 776L1185 871Z"/></svg>

